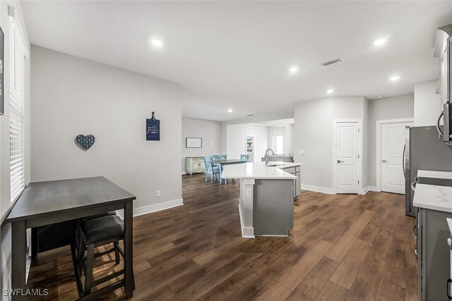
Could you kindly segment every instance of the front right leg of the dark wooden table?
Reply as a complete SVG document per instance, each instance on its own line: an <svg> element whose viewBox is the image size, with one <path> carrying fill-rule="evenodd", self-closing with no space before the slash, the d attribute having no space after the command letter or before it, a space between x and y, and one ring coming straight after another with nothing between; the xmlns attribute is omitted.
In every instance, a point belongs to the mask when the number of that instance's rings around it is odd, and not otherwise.
<svg viewBox="0 0 452 301"><path fill-rule="evenodd" d="M126 298L133 295L133 202L127 201L124 208L124 278L126 280Z"/></svg>

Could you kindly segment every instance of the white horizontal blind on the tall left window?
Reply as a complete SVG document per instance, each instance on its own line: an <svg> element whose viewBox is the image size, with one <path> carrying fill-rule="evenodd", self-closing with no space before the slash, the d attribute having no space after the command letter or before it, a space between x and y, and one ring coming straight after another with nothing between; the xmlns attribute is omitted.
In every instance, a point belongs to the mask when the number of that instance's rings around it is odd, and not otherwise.
<svg viewBox="0 0 452 301"><path fill-rule="evenodd" d="M9 157L11 202L14 202L25 187L25 51L23 50L20 31L13 18L10 18L9 29Z"/></svg>

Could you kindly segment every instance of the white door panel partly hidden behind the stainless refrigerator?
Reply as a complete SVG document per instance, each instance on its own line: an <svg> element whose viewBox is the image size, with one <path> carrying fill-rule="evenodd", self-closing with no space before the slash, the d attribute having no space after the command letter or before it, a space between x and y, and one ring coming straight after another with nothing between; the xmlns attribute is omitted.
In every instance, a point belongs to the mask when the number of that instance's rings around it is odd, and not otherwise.
<svg viewBox="0 0 452 301"><path fill-rule="evenodd" d="M405 194L403 146L405 127L412 123L381 124L381 191ZM377 165L378 166L378 165Z"/></svg>

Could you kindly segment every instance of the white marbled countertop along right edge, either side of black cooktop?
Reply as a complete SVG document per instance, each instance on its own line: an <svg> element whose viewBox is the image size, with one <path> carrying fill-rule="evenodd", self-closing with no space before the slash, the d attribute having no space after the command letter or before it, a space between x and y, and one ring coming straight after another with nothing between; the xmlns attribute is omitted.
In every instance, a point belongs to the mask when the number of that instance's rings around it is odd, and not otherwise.
<svg viewBox="0 0 452 301"><path fill-rule="evenodd" d="M417 176L427 178L451 178L449 171L418 171ZM452 187L416 184L415 207L452 212Z"/></svg>

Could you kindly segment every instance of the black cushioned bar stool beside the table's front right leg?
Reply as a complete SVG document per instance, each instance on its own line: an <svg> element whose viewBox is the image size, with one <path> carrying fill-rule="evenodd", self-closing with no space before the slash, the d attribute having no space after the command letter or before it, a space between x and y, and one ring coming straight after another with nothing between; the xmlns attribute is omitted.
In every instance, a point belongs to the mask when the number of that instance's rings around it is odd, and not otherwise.
<svg viewBox="0 0 452 301"><path fill-rule="evenodd" d="M76 245L72 247L72 251L78 295L79 297L84 297L91 294L91 289L94 286L124 275L124 269L121 269L121 271L115 271L114 273L97 280L94 280L93 278L93 262L95 257L103 256L114 251L115 264L119 264L119 254L121 254L124 259L124 251L119 247L119 240L124 239L124 222L116 215L103 215L94 218L80 219L78 231L79 233L76 235L78 241L75 241ZM110 243L113 243L112 249L95 254L96 247L108 245ZM82 271L83 274L85 274L85 285L82 285L81 283ZM105 293L107 293L107 291L116 290L117 288L124 286L124 284L125 281L123 277L120 281L117 281L108 287L96 290L94 294L101 293L101 291L104 290ZM133 287L134 286L133 281Z"/></svg>

